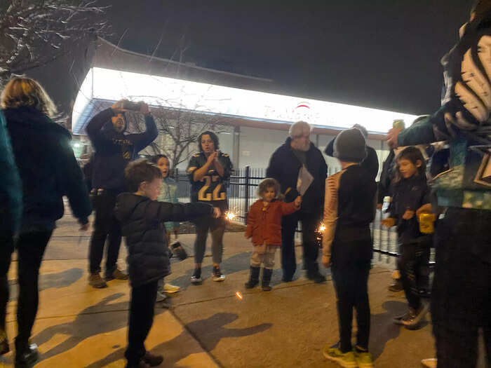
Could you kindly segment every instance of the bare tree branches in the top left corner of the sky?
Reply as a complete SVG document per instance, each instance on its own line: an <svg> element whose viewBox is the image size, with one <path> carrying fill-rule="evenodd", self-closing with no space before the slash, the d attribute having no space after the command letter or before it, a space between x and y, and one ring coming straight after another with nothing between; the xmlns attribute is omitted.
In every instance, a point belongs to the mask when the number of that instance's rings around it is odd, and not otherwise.
<svg viewBox="0 0 491 368"><path fill-rule="evenodd" d="M11 0L0 5L0 83L104 36L107 7L93 0Z"/></svg>

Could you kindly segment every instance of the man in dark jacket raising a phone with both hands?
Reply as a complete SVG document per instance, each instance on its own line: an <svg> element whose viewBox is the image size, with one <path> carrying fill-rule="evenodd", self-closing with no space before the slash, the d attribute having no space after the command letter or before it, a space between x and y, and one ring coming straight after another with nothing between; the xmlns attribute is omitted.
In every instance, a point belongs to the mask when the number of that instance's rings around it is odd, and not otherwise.
<svg viewBox="0 0 491 368"><path fill-rule="evenodd" d="M147 104L139 104L147 130L142 133L124 134L125 112L128 101L120 100L111 108L95 115L86 131L95 154L92 161L92 194L95 222L89 250L89 285L107 287L105 280L126 280L128 276L116 267L121 245L121 225L114 218L116 196L124 191L124 169L128 162L137 158L138 152L157 137L154 118ZM100 277L100 264L104 245L108 238L105 280Z"/></svg>

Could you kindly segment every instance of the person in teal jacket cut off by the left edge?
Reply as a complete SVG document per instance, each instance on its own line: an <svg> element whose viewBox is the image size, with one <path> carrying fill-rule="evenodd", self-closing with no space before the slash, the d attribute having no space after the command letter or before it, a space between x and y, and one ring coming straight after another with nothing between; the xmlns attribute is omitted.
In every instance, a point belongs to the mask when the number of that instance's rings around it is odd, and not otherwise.
<svg viewBox="0 0 491 368"><path fill-rule="evenodd" d="M8 352L5 330L8 302L8 268L13 252L13 234L20 227L22 216L22 186L12 154L11 139L0 111L0 355ZM8 260L8 261L7 261Z"/></svg>

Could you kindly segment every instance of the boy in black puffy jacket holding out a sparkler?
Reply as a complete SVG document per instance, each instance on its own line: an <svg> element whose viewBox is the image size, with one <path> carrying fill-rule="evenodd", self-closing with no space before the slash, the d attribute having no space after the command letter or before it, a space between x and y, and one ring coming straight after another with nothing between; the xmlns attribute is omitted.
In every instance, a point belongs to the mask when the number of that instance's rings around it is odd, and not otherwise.
<svg viewBox="0 0 491 368"><path fill-rule="evenodd" d="M157 202L162 175L147 160L133 161L125 170L128 189L121 193L114 210L126 236L128 270L131 284L127 368L155 367L161 355L147 353L144 341L154 321L154 305L159 280L170 273L164 222L188 221L201 216L220 216L220 210L207 203ZM148 365L149 364L149 365Z"/></svg>

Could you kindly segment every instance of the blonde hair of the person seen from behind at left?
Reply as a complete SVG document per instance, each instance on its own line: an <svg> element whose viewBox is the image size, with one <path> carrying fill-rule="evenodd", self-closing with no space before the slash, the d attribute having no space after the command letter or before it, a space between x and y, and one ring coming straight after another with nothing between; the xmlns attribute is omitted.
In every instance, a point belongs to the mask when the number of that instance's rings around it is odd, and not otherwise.
<svg viewBox="0 0 491 368"><path fill-rule="evenodd" d="M29 78L11 79L1 93L0 107L16 109L22 106L34 107L49 117L56 114L55 104L38 82Z"/></svg>

